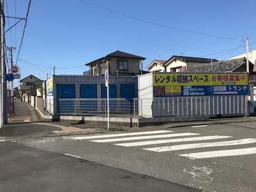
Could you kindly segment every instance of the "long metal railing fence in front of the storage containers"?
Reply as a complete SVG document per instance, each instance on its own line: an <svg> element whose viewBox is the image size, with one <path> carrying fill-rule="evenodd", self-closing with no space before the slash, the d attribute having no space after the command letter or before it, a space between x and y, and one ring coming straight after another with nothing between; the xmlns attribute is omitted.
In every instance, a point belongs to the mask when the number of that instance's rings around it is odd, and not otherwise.
<svg viewBox="0 0 256 192"><path fill-rule="evenodd" d="M107 99L58 99L58 115L107 116ZM53 114L53 99L47 99L47 112ZM218 116L248 112L244 95L209 97L161 97L154 99L109 99L111 116Z"/></svg>

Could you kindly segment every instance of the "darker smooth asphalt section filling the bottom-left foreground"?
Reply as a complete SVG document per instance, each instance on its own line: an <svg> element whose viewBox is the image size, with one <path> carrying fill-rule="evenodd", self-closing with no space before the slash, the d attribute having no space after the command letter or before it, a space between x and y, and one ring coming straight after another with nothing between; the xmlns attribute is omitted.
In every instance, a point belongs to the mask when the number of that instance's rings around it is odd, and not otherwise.
<svg viewBox="0 0 256 192"><path fill-rule="evenodd" d="M200 191L3 140L0 165L0 191Z"/></svg>

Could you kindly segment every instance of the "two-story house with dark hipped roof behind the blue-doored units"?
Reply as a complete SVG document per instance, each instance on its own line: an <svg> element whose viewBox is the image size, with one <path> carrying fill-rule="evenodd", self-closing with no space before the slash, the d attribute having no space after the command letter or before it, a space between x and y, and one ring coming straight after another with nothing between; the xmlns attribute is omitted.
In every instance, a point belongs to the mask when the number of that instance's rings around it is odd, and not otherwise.
<svg viewBox="0 0 256 192"><path fill-rule="evenodd" d="M109 76L136 76L141 73L141 62L145 59L127 52L115 51L85 65L90 67L91 76L103 76L106 69L109 70Z"/></svg>

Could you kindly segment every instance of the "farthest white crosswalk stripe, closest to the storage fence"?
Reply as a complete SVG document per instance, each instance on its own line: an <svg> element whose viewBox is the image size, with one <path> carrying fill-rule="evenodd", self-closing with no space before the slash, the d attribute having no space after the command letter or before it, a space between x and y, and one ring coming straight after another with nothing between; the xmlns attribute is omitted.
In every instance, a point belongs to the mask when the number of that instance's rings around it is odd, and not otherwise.
<svg viewBox="0 0 256 192"><path fill-rule="evenodd" d="M100 134L94 136L81 136L81 137L63 137L64 139L73 139L73 140L92 140L92 139L99 139L99 138L114 138L114 137L121 137L121 136L133 136L133 135L143 135L143 134L158 134L158 133L170 133L173 131L141 131L141 132L127 132L127 133L117 133L117 134Z"/></svg>

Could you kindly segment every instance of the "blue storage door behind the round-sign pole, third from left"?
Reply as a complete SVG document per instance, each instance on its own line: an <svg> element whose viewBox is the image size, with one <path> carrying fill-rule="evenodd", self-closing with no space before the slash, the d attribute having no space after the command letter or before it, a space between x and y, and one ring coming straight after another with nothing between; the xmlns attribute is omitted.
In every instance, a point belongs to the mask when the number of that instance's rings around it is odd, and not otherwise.
<svg viewBox="0 0 256 192"><path fill-rule="evenodd" d="M101 95L100 98L107 98L107 88L106 84L101 85ZM116 84L109 84L109 109L116 109L116 100L111 100L111 98L116 98ZM102 109L105 108L105 101L101 102Z"/></svg>

